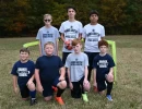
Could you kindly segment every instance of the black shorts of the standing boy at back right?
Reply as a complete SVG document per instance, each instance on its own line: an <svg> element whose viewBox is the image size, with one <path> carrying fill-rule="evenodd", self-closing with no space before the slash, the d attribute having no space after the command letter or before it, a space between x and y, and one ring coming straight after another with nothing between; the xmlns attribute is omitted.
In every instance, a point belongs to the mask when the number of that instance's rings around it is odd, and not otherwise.
<svg viewBox="0 0 142 109"><path fill-rule="evenodd" d="M88 68L93 69L93 60L94 58L99 53L99 52L86 52L84 51L84 53L86 53L87 58L88 58Z"/></svg>

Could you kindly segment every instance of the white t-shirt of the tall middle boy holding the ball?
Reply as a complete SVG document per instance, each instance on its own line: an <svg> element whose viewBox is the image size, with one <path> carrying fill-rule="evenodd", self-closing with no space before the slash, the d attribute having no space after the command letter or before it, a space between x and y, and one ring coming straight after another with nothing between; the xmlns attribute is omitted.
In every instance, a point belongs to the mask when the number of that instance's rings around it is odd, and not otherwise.
<svg viewBox="0 0 142 109"><path fill-rule="evenodd" d="M66 40L73 40L74 38L79 37L79 34L82 34L82 23L79 21L70 22L66 21L61 24L59 32L61 34L64 34L64 39ZM64 44L62 47L63 52L73 52L73 50L68 50L64 48Z"/></svg>

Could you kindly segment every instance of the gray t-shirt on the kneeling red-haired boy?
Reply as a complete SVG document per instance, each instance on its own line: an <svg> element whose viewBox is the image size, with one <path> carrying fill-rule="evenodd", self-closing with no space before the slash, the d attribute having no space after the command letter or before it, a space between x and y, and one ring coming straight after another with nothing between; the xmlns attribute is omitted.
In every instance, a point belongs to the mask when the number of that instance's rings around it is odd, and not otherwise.
<svg viewBox="0 0 142 109"><path fill-rule="evenodd" d="M85 72L85 66L88 65L87 56L84 52L75 55L70 53L67 57L66 68L70 69L70 80L71 82L79 82Z"/></svg>

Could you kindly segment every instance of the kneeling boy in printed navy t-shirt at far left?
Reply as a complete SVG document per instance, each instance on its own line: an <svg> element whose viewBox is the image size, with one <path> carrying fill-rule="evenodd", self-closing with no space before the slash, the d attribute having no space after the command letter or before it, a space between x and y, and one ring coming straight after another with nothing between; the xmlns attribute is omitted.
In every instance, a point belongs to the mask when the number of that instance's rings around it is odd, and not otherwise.
<svg viewBox="0 0 142 109"><path fill-rule="evenodd" d="M36 90L34 81L35 64L28 60L29 50L22 48L20 50L20 60L15 62L11 74L13 75L13 88L14 93L17 93L17 84L20 87L21 96L23 100L26 100L31 96L31 106L36 104Z"/></svg>

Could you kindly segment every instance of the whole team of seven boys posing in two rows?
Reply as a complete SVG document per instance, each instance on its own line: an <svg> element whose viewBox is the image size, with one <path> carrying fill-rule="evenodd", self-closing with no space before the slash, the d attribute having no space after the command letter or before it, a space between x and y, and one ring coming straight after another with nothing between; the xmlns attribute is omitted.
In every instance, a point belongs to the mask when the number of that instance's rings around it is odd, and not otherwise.
<svg viewBox="0 0 142 109"><path fill-rule="evenodd" d="M50 100L56 92L55 99L64 105L61 95L69 87L72 98L82 97L87 102L86 92L91 88L93 72L94 92L104 95L107 89L106 98L113 101L110 94L115 62L107 53L108 43L104 39L104 26L97 23L98 12L90 12L91 23L84 27L75 20L75 8L69 7L67 13L69 20L61 24L59 31L51 26L51 15L44 15L45 26L39 28L36 37L39 40L40 57L35 63L28 59L27 48L20 50L20 60L11 71L14 92L17 93L19 85L22 98L26 100L29 96L31 105L37 104L36 90L43 94L46 101ZM58 56L59 37L63 41L62 60Z"/></svg>

